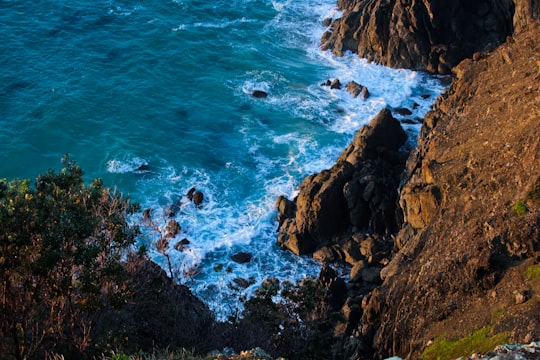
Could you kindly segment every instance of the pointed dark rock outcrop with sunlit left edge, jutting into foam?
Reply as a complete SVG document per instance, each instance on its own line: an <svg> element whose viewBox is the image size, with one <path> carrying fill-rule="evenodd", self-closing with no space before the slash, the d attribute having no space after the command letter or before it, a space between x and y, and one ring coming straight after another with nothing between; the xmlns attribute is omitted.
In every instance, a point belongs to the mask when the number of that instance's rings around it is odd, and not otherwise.
<svg viewBox="0 0 540 360"><path fill-rule="evenodd" d="M278 199L278 244L304 255L349 242L357 232L396 232L397 188L406 158L399 149L406 138L391 112L382 110L331 169L300 184L295 203Z"/></svg>

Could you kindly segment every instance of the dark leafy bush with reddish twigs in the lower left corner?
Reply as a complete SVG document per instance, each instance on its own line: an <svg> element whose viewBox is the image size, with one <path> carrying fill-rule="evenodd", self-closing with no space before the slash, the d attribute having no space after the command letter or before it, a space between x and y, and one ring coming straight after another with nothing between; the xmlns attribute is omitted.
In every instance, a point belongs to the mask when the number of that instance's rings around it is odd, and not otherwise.
<svg viewBox="0 0 540 360"><path fill-rule="evenodd" d="M0 353L15 359L82 354L96 310L128 295L121 257L138 234L134 207L62 162L35 187L0 180Z"/></svg>

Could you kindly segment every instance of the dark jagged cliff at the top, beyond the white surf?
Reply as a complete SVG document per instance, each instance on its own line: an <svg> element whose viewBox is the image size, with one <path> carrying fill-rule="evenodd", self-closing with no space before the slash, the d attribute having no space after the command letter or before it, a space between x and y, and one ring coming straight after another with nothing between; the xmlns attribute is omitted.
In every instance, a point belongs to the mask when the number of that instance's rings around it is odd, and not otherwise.
<svg viewBox="0 0 540 360"><path fill-rule="evenodd" d="M448 74L539 16L530 0L339 0L321 47L390 67ZM515 23L515 26L514 26Z"/></svg>

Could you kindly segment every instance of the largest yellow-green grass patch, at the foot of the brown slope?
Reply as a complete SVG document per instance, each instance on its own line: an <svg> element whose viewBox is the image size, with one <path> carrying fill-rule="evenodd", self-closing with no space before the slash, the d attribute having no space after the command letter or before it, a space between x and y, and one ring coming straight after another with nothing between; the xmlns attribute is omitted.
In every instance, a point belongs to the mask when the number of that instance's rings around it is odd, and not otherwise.
<svg viewBox="0 0 540 360"><path fill-rule="evenodd" d="M476 352L492 351L497 345L508 342L510 333L491 335L492 331L491 326L486 326L456 341L437 338L424 350L422 360L457 359Z"/></svg>

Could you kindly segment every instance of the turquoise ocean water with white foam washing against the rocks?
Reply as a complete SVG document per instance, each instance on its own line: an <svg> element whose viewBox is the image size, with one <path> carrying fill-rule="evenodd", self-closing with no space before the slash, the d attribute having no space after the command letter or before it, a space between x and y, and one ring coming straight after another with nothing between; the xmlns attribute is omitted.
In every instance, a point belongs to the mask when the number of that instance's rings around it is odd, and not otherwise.
<svg viewBox="0 0 540 360"><path fill-rule="evenodd" d="M275 199L330 167L380 109L418 119L443 89L320 51L327 17L339 17L335 0L0 1L0 177L58 170L69 153L88 181L151 208L161 230L177 204L171 275L218 318L267 277L316 275L318 264L275 245ZM371 97L320 85L334 78ZM405 128L414 143L419 125ZM186 197L192 187L201 207ZM170 272L145 229L139 241ZM233 262L239 251L251 262Z"/></svg>

